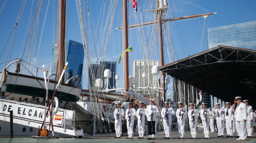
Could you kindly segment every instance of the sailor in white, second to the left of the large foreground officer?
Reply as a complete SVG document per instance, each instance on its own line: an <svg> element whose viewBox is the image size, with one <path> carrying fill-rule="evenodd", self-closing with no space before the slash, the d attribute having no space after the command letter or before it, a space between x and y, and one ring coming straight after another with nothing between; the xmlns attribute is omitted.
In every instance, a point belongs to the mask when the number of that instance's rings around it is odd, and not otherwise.
<svg viewBox="0 0 256 143"><path fill-rule="evenodd" d="M220 108L219 103L216 103L216 108L213 107L213 109L212 109L212 111L215 112L215 120L216 120L217 128L218 128L218 136L217 137L224 136L224 125L223 125L224 116L222 114L224 109L225 109L225 106Z"/></svg>

